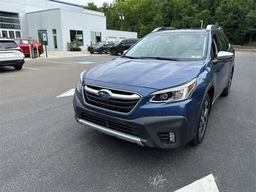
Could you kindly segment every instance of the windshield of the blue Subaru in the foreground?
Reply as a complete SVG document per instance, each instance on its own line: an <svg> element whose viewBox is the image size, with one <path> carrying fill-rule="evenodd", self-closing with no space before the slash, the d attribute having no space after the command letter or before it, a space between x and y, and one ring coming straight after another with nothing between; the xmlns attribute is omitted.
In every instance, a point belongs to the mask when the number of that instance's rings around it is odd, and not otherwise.
<svg viewBox="0 0 256 192"><path fill-rule="evenodd" d="M149 34L126 52L125 56L202 60L206 54L206 43L207 33Z"/></svg>

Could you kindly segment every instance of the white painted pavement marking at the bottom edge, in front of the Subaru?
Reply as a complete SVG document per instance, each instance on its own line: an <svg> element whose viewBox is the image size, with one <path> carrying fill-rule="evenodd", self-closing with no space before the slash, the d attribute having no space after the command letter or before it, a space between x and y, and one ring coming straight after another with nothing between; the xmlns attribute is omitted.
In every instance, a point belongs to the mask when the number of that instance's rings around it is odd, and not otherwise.
<svg viewBox="0 0 256 192"><path fill-rule="evenodd" d="M175 192L219 192L212 174L199 179Z"/></svg>

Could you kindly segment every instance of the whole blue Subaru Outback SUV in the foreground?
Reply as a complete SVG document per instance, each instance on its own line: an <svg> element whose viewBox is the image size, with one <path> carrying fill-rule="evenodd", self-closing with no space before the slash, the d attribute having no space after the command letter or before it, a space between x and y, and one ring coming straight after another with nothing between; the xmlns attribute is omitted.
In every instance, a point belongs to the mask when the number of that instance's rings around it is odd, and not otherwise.
<svg viewBox="0 0 256 192"><path fill-rule="evenodd" d="M75 118L141 146L199 144L212 105L228 96L233 71L234 49L221 27L152 32L81 73Z"/></svg>

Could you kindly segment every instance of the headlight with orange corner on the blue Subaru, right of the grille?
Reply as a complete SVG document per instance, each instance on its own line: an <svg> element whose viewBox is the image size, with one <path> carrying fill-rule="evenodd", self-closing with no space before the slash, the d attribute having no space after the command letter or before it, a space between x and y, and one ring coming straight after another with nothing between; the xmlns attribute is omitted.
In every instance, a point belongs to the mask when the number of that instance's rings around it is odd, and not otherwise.
<svg viewBox="0 0 256 192"><path fill-rule="evenodd" d="M150 96L153 96L149 102L177 102L186 100L194 91L196 87L196 78L193 80L173 88L168 88L160 91L153 92Z"/></svg>

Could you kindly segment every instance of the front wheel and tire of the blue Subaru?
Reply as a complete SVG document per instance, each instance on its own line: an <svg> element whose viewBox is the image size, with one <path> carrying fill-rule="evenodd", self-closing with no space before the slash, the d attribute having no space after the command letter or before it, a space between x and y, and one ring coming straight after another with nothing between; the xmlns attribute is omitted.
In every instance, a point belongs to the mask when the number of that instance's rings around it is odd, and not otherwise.
<svg viewBox="0 0 256 192"><path fill-rule="evenodd" d="M196 128L196 135L190 141L190 144L198 145L204 140L204 135L206 132L209 114L210 114L210 97L207 94L203 100L200 108L198 126Z"/></svg>

